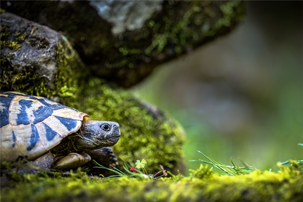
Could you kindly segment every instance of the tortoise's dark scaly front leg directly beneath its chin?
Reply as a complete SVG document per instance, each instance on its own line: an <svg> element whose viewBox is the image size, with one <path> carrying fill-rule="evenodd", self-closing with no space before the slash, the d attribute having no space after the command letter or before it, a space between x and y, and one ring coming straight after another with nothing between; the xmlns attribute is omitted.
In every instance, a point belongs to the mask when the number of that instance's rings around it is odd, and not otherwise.
<svg viewBox="0 0 303 202"><path fill-rule="evenodd" d="M86 151L86 153L91 157L92 160L95 160L98 164L106 168L114 169L113 167L115 167L119 169L119 163L117 157L110 147L103 147L100 149ZM93 167L99 167L99 165L97 165L94 161L88 162L85 166L89 166L90 169L89 174L93 174L93 175L102 174L104 176L109 176L114 174L113 172L106 169L93 168Z"/></svg>

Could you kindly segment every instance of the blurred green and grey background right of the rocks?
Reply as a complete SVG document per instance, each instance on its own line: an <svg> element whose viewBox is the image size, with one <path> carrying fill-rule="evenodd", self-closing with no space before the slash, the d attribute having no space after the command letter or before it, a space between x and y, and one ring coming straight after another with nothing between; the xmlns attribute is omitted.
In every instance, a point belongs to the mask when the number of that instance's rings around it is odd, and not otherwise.
<svg viewBox="0 0 303 202"><path fill-rule="evenodd" d="M169 64L132 91L177 119L187 133L186 170L203 159L239 157L260 170L302 160L302 2L248 2L247 18Z"/></svg>

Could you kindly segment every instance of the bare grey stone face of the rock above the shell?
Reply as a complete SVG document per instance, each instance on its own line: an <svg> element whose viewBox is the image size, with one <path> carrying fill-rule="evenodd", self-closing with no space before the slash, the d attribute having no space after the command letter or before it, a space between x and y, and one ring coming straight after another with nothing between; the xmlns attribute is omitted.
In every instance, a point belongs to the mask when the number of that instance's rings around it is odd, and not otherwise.
<svg viewBox="0 0 303 202"><path fill-rule="evenodd" d="M33 72L44 77L47 86L54 89L57 44L62 36L7 12L1 15L1 32L1 58L8 63L1 70L11 67L16 72Z"/></svg>

